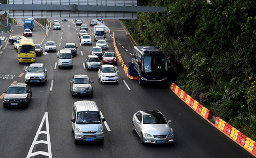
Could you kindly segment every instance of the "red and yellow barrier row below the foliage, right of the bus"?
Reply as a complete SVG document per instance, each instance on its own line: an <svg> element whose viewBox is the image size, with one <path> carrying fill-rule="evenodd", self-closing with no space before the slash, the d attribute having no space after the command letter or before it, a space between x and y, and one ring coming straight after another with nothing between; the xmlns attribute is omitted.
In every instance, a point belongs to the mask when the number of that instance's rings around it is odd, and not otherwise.
<svg viewBox="0 0 256 158"><path fill-rule="evenodd" d="M172 83L169 88L182 99L187 105L197 111L205 119L211 119L210 110L185 93L177 84ZM215 126L226 133L234 142L241 144L247 151L256 155L256 142L245 136L238 129L234 128L220 117L216 117Z"/></svg>

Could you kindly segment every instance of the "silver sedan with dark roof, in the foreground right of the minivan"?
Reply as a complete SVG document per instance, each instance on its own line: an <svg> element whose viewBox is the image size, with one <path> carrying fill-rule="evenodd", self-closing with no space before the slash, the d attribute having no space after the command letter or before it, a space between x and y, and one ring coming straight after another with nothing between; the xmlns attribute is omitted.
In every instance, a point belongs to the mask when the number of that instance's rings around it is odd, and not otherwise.
<svg viewBox="0 0 256 158"><path fill-rule="evenodd" d="M132 130L140 137L140 143L173 143L174 131L159 110L140 110L133 115Z"/></svg>

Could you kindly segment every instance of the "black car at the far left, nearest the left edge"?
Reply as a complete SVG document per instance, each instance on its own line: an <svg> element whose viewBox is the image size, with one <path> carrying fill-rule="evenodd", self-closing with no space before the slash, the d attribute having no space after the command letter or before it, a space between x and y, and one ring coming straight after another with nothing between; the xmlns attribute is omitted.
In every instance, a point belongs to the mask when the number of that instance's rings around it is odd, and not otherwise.
<svg viewBox="0 0 256 158"><path fill-rule="evenodd" d="M31 87L25 83L15 83L11 84L3 97L4 107L14 107L14 106L29 106L29 100L32 98Z"/></svg>

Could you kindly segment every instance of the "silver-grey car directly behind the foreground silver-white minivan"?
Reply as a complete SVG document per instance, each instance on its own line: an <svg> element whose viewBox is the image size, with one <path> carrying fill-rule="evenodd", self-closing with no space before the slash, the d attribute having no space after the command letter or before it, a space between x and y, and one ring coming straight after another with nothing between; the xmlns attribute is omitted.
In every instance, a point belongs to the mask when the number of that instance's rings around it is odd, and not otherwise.
<svg viewBox="0 0 256 158"><path fill-rule="evenodd" d="M74 75L70 81L70 91L72 96L86 95L93 96L93 81L87 75Z"/></svg>

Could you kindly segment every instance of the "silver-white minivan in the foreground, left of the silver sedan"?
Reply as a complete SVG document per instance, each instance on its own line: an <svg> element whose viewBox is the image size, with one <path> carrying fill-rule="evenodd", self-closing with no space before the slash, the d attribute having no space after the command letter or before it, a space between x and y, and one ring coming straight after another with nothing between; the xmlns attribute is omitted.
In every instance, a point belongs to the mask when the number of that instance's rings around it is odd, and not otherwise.
<svg viewBox="0 0 256 158"><path fill-rule="evenodd" d="M102 122L105 121L100 115L94 101L77 101L72 110L72 131L75 136L75 144L81 141L104 142Z"/></svg>

